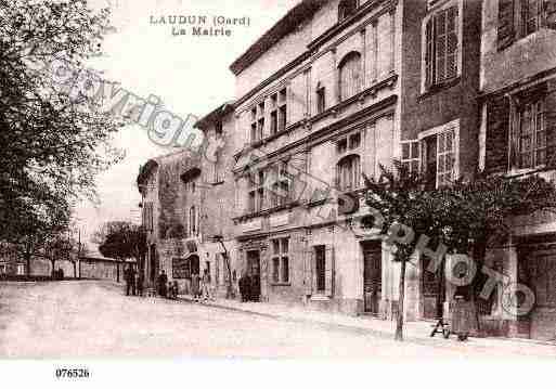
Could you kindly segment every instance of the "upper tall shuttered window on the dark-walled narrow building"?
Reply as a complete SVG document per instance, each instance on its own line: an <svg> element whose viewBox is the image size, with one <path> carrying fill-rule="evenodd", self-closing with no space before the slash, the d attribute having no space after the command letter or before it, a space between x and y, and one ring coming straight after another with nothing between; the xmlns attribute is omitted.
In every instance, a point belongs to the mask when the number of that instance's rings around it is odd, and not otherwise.
<svg viewBox="0 0 556 389"><path fill-rule="evenodd" d="M425 26L425 89L458 75L458 10L450 7L434 13Z"/></svg>

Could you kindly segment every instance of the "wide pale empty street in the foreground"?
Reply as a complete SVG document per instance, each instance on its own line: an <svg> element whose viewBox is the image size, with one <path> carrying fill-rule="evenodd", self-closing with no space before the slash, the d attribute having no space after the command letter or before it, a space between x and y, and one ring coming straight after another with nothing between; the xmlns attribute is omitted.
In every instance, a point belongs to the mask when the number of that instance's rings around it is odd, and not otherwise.
<svg viewBox="0 0 556 389"><path fill-rule="evenodd" d="M126 297L104 282L0 284L0 358L468 358L184 301ZM484 355L484 353L481 353Z"/></svg>

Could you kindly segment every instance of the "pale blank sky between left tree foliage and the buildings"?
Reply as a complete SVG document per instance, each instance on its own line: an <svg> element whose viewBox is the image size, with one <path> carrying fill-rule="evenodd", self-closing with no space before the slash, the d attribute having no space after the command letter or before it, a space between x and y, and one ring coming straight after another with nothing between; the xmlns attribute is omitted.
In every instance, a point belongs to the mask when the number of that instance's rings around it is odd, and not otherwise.
<svg viewBox="0 0 556 389"><path fill-rule="evenodd" d="M116 31L105 38L105 55L88 66L135 95L160 98L168 111L182 118L203 117L235 98L230 64L298 1L90 0L95 9L112 9ZM159 21L169 15L246 16L250 26L232 27L231 37L172 36L171 25L151 23L151 16ZM192 26L182 28L191 31ZM100 202L82 200L76 209L76 225L85 242L107 221L140 222L139 168L148 158L176 151L152 143L139 126L122 129L114 145L126 152L126 158L98 177Z"/></svg>

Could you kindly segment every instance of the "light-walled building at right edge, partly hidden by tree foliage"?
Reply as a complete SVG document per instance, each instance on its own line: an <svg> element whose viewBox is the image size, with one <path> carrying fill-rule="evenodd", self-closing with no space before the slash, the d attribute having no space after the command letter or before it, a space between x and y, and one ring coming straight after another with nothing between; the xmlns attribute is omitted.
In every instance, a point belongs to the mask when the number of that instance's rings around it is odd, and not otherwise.
<svg viewBox="0 0 556 389"><path fill-rule="evenodd" d="M496 174L539 173L554 180L556 145L556 1L482 2L481 168ZM549 212L512 221L512 239L489 252L493 269L535 295L515 316L502 297L486 313L502 335L556 338L556 219Z"/></svg>

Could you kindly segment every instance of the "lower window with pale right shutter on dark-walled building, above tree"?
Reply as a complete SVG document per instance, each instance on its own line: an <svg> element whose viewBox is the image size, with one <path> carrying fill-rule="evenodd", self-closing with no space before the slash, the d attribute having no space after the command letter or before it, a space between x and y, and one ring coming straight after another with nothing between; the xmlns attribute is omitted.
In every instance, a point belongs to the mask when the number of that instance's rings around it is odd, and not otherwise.
<svg viewBox="0 0 556 389"><path fill-rule="evenodd" d="M453 129L427 137L424 140L427 189L450 185L455 176L455 132Z"/></svg>

